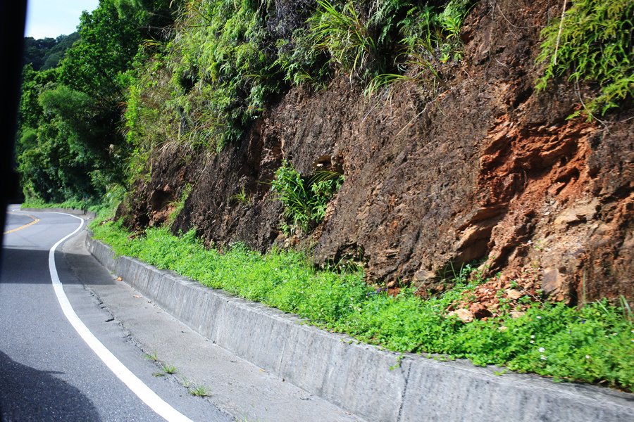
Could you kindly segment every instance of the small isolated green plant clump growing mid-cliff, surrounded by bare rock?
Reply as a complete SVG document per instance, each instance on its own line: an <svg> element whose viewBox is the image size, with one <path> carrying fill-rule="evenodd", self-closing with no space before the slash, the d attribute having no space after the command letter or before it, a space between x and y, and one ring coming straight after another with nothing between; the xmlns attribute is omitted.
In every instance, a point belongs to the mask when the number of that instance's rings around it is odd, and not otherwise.
<svg viewBox="0 0 634 422"><path fill-rule="evenodd" d="M271 182L271 190L284 205L284 217L290 225L282 224L287 234L299 229L306 233L325 217L325 209L332 196L339 191L344 177L320 171L309 179L302 177L290 162L282 162Z"/></svg>

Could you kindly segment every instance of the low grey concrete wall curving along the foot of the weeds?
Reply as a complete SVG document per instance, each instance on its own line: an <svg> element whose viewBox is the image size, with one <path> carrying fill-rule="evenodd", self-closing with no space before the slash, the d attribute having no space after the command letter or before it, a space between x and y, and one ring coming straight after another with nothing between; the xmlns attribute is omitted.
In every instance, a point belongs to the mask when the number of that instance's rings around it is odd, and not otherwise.
<svg viewBox="0 0 634 422"><path fill-rule="evenodd" d="M87 246L121 276L216 345L368 421L634 421L634 395L555 384L468 362L398 354L302 324L297 316Z"/></svg>

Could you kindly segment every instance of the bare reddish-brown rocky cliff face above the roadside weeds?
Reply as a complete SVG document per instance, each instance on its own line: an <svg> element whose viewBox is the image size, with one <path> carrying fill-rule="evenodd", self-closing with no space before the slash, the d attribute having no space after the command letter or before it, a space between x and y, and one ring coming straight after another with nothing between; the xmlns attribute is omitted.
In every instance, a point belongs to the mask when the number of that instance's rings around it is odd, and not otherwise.
<svg viewBox="0 0 634 422"><path fill-rule="evenodd" d="M554 4L556 3L556 4ZM549 298L634 298L634 120L567 120L580 107L565 79L536 92L540 29L561 2L480 1L461 30L464 60L435 79L364 96L347 77L290 89L239 145L154 151L151 178L126 204L128 224L173 222L206 243L310 247L317 264L354 260L368 281L442 288L450 268L483 260L492 290L511 282ZM415 71L411 70L412 75ZM309 235L280 234L270 185L289 160L302 174L345 176ZM244 192L248 200L236 200Z"/></svg>

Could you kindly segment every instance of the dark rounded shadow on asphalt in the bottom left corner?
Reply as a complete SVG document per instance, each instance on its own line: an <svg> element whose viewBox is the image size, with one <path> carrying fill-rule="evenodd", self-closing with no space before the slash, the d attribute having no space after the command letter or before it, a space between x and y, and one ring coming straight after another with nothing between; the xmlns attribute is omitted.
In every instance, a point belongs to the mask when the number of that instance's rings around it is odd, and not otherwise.
<svg viewBox="0 0 634 422"><path fill-rule="evenodd" d="M0 420L100 421L92 402L56 373L18 364L0 352Z"/></svg>

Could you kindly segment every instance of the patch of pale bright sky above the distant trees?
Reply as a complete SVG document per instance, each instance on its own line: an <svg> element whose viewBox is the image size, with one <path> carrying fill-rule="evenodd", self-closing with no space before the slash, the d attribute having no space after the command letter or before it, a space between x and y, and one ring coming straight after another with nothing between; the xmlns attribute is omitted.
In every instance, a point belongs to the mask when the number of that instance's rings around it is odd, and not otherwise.
<svg viewBox="0 0 634 422"><path fill-rule="evenodd" d="M77 30L82 11L94 11L99 0L27 0L25 37L42 39Z"/></svg>

